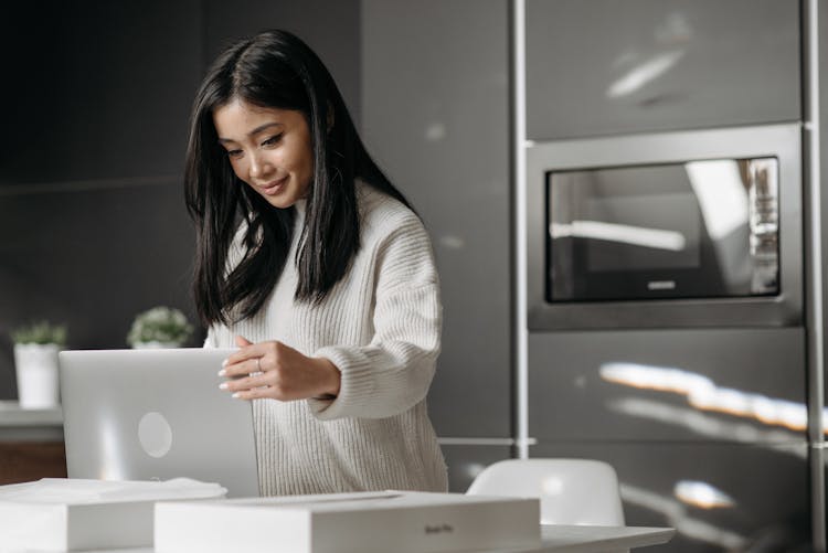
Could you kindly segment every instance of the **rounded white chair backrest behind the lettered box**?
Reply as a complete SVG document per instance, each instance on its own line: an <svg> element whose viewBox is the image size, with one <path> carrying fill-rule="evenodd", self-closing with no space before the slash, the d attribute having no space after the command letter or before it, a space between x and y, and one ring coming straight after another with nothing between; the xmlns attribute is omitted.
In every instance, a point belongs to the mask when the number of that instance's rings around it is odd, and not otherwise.
<svg viewBox="0 0 828 553"><path fill-rule="evenodd" d="M624 525L615 469L593 459L509 459L484 469L466 493L535 497L541 524Z"/></svg>

